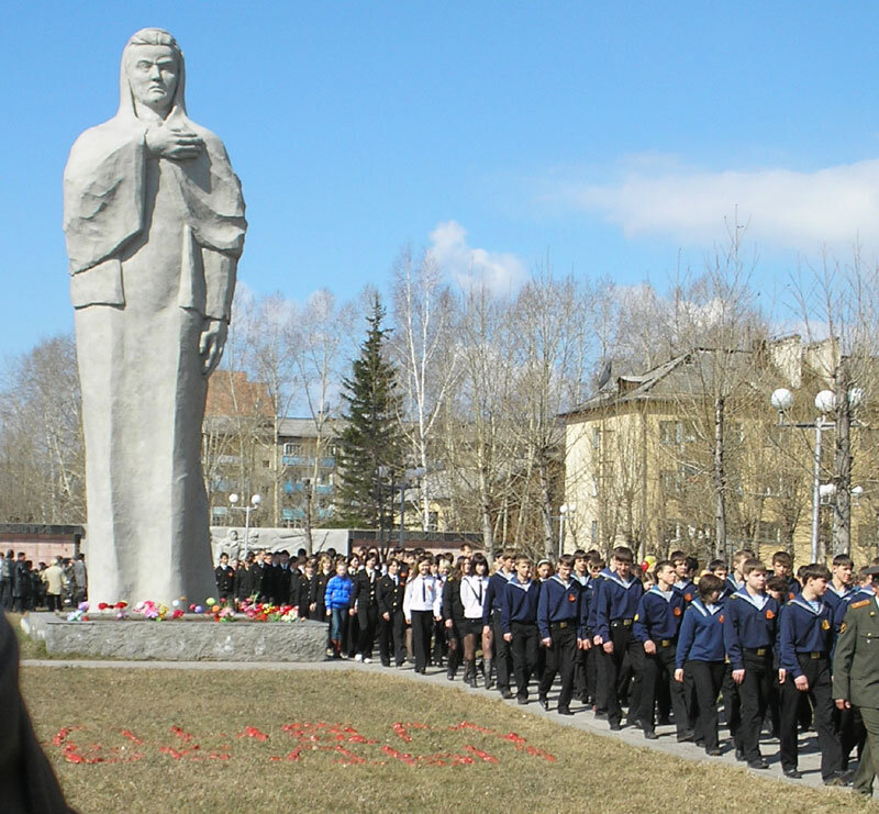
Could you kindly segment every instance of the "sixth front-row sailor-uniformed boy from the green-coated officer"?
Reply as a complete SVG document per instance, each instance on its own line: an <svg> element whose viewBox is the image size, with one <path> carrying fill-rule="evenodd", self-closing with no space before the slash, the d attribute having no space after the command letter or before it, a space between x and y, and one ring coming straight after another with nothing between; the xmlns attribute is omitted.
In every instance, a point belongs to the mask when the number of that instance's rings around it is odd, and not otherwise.
<svg viewBox="0 0 879 814"><path fill-rule="evenodd" d="M537 692L541 706L548 711L547 693L556 673L560 674L559 715L572 714L570 698L574 693L574 661L586 638L583 588L571 578L572 568L574 557L563 554L556 575L541 586L537 600L537 627L546 650L546 667Z"/></svg>

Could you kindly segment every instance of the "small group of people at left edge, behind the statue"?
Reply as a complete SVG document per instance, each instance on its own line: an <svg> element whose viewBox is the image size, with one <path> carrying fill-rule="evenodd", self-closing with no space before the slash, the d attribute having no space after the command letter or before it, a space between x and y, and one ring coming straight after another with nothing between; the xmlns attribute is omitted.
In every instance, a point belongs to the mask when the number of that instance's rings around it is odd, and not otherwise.
<svg viewBox="0 0 879 814"><path fill-rule="evenodd" d="M0 607L24 613L46 609L60 611L76 607L86 599L88 572L86 557L56 556L46 565L27 559L25 551L18 555L11 548L0 551Z"/></svg>

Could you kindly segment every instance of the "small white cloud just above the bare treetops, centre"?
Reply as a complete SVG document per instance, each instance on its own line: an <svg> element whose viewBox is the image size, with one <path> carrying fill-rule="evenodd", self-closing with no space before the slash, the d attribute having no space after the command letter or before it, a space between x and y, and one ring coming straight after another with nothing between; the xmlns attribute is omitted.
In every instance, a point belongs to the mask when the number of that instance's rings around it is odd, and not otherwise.
<svg viewBox="0 0 879 814"><path fill-rule="evenodd" d="M486 286L496 294L514 291L525 280L525 265L513 254L472 248L467 230L457 221L437 224L431 232L431 253L439 267L463 288Z"/></svg>

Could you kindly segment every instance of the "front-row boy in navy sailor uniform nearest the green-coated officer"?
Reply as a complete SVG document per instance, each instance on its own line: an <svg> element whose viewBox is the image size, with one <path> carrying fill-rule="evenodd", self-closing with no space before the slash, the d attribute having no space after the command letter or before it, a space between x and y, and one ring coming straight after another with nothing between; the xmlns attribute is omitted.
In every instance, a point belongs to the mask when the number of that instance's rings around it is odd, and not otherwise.
<svg viewBox="0 0 879 814"><path fill-rule="evenodd" d="M786 777L801 778L797 768L800 699L809 693L815 715L824 785L845 785L843 754L833 726L831 650L833 611L823 601L831 572L812 562L803 571L803 588L785 605L779 623L778 681L781 684L781 768Z"/></svg>

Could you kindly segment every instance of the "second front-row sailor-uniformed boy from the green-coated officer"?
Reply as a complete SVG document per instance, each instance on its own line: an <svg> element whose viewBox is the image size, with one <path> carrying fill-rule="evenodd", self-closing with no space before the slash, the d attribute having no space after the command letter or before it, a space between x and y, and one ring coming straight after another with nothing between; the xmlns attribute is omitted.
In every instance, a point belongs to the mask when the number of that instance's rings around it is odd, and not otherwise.
<svg viewBox="0 0 879 814"><path fill-rule="evenodd" d="M772 691L772 645L778 603L766 591L766 566L746 559L741 566L745 584L724 603L723 642L732 666L732 679L742 703L742 752L736 757L752 769L768 769L760 755L760 729Z"/></svg>

